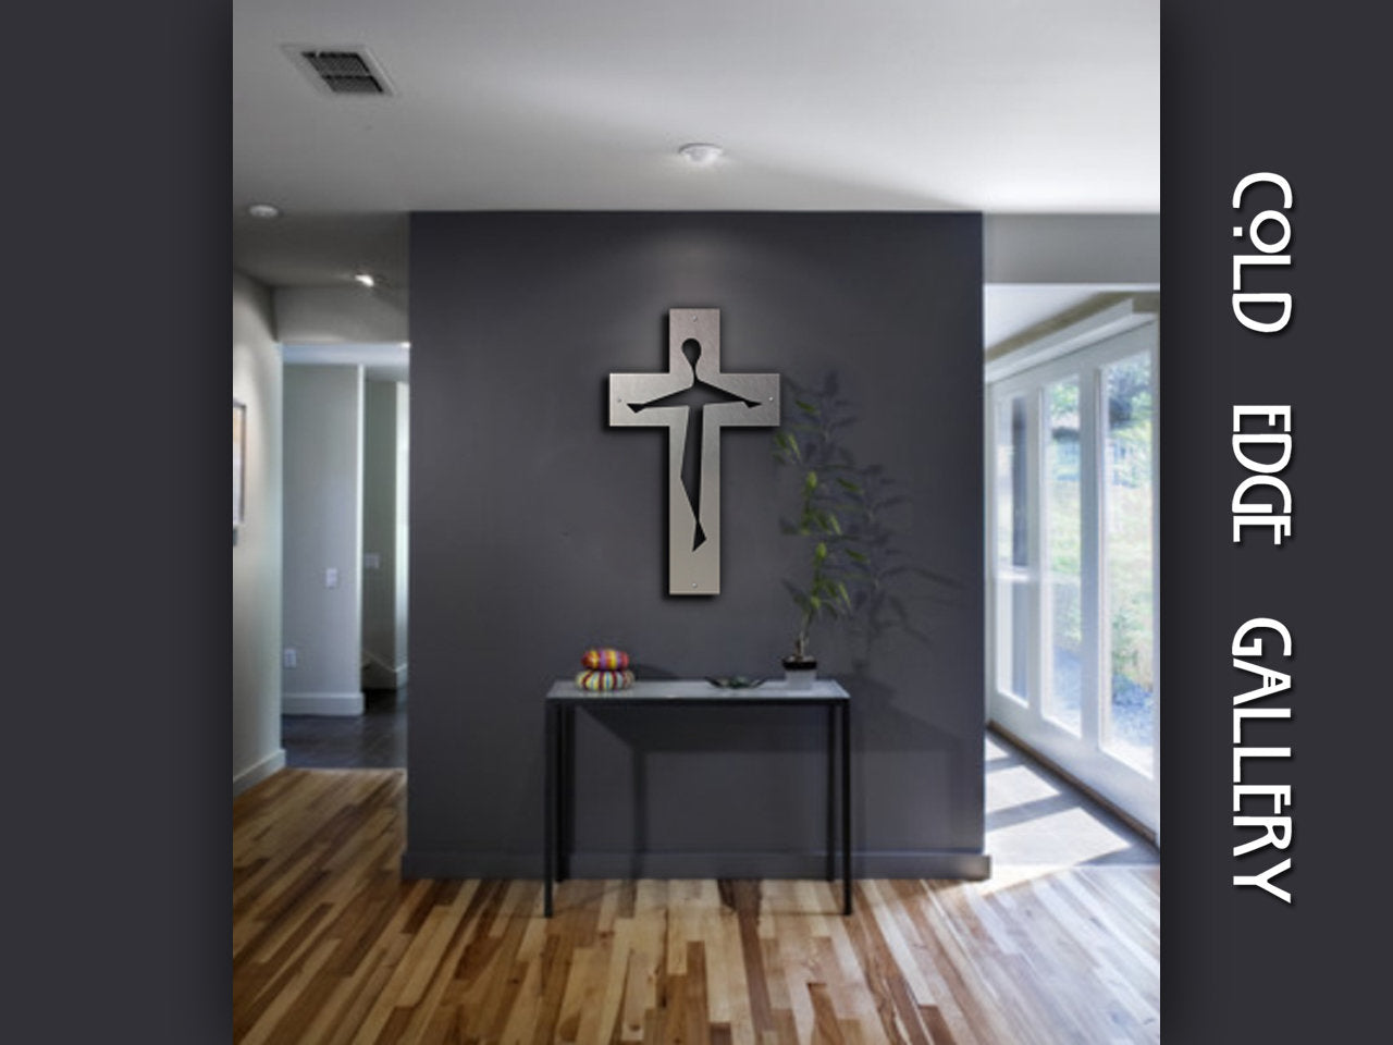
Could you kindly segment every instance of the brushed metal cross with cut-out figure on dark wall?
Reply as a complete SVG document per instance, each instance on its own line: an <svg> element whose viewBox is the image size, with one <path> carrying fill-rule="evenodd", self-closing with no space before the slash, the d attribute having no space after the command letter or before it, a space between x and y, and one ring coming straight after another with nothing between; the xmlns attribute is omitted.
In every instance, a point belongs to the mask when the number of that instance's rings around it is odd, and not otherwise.
<svg viewBox="0 0 1393 1045"><path fill-rule="evenodd" d="M720 372L720 309L667 312L667 373L612 373L612 426L667 429L667 591L720 592L720 429L779 424L777 373Z"/></svg>

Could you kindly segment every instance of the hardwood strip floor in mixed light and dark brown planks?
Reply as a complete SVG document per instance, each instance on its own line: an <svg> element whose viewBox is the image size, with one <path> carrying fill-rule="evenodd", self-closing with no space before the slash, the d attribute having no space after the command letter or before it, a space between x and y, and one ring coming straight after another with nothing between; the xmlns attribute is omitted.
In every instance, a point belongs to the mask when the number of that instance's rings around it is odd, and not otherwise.
<svg viewBox="0 0 1393 1045"><path fill-rule="evenodd" d="M401 881L401 771L233 805L238 1042L1159 1039L1159 868L988 882ZM840 888L840 886L836 886Z"/></svg>

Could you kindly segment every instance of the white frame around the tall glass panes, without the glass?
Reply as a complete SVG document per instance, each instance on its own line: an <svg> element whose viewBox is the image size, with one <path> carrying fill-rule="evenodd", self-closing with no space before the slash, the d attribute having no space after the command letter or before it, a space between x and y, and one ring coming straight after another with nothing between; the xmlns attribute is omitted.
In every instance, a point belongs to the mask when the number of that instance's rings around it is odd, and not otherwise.
<svg viewBox="0 0 1393 1045"><path fill-rule="evenodd" d="M1064 354L1049 354L1043 361L1027 364L1022 368L989 368L986 378L985 425L985 468L986 468L986 692L988 719L1007 733L1035 748L1050 762L1059 765L1077 780L1100 794L1107 801L1127 812L1139 823L1160 836L1160 485L1159 485L1159 433L1160 433L1160 358L1159 323L1149 322L1123 333L1103 337ZM1102 745L1110 701L1105 692L1105 680L1110 677L1107 666L1109 628L1106 620L1103 562L1103 503L1106 431L1099 431L1099 419L1106 418L1103 408L1105 369L1121 359L1149 353L1152 380L1152 677L1155 679L1155 699L1152 702L1152 765L1151 775L1138 772ZM1039 357L1036 357L1039 358ZM1080 679L1081 732L1075 736L1067 727L1050 720L1043 713L1045 656L1049 655L1049 617L1045 605L1042 564L1046 562L1043 525L1045 500L1045 419L1043 393L1050 385L1068 378L1080 382L1080 510L1082 522L1082 548L1080 582L1082 588L1082 647L1085 651ZM1029 566L1027 582L1029 592L1029 620L1025 637L1028 680L1027 701L1006 691L997 680L997 591L1004 571L997 562L997 497L996 497L996 412L999 403L1024 397L1027 407L1027 431L1031 433L1025 446L1027 467L1027 520L1029 541ZM1018 568L1011 570L1018 577Z"/></svg>

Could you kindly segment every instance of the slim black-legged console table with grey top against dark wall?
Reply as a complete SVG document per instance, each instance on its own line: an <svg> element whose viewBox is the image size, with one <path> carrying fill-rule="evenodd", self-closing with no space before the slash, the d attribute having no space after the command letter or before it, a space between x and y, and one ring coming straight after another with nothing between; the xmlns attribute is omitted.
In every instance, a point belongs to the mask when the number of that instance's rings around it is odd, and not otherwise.
<svg viewBox="0 0 1393 1045"><path fill-rule="evenodd" d="M719 706L781 706L827 709L827 881L833 881L836 862L836 816L833 801L837 793L840 765L841 808L841 908L851 914L851 698L840 684L819 679L805 684L770 680L762 686L730 690L705 680L671 679L642 680L627 690L592 692L574 681L559 681L546 694L546 826L543 843L545 911L552 917L552 885L568 875L570 844L566 828L570 823L570 801L566 782L575 757L577 708L671 708L692 705ZM841 757L837 757L840 737Z"/></svg>

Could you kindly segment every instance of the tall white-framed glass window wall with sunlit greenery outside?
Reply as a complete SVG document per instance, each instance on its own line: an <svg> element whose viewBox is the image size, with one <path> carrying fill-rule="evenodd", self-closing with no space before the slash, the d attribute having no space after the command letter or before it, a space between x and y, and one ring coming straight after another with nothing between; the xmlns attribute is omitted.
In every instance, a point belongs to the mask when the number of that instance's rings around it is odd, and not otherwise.
<svg viewBox="0 0 1393 1045"><path fill-rule="evenodd" d="M988 385L989 716L1159 829L1156 323Z"/></svg>

